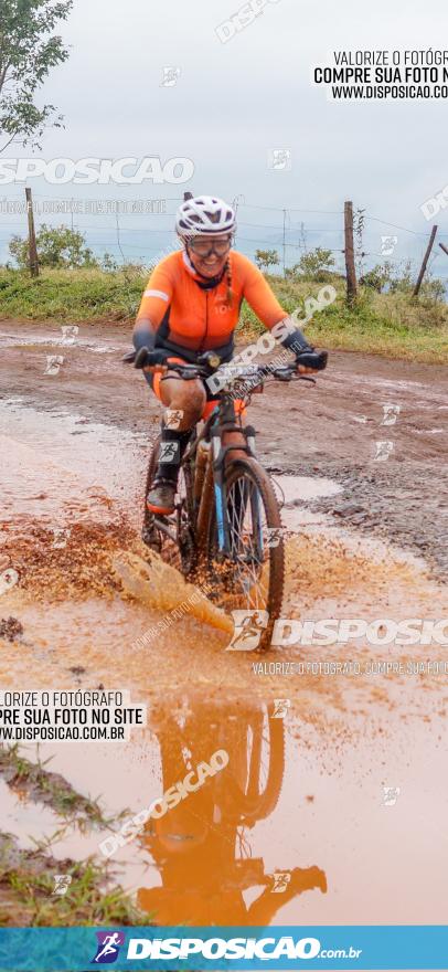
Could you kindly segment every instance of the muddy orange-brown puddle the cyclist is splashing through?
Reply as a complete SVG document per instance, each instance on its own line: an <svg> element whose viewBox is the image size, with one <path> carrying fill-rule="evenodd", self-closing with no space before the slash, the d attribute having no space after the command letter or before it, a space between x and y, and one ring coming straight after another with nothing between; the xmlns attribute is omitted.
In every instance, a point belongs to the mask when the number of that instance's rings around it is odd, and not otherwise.
<svg viewBox="0 0 448 972"><path fill-rule="evenodd" d="M0 580L17 574L3 583L0 619L22 628L0 637L2 687L126 688L149 711L129 742L45 743L40 759L100 797L106 815L134 816L217 750L228 756L111 854L110 869L139 907L160 923L363 923L366 915L442 923L448 676L290 669L341 658L361 667L448 661L448 649L286 638L262 657L227 652L228 631L193 610L151 634L167 602L134 596L116 571L117 558L129 566L143 556L146 436L19 398L1 402L0 420ZM447 615L446 591L424 561L312 509L338 484L274 478L288 530L285 619ZM167 573L164 598L170 584ZM23 752L36 757L32 746ZM2 786L2 826L23 846L58 830L51 807ZM68 822L51 852L102 858L99 844L117 833L113 824L79 834Z"/></svg>

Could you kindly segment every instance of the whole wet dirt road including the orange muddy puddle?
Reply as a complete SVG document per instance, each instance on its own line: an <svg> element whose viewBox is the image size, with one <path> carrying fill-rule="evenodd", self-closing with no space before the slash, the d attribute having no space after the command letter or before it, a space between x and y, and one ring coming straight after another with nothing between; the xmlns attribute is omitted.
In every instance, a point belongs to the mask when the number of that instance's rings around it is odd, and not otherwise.
<svg viewBox="0 0 448 972"><path fill-rule="evenodd" d="M128 347L121 327L81 327L71 344L55 327L0 326L0 580L7 568L19 579L0 594L1 686L121 686L148 704L126 746L41 747L109 813L141 810L226 749L230 782L114 857L161 920L442 923L448 676L425 665L448 647L352 638L260 661L226 653L228 636L193 616L142 647L161 612L124 595L113 562L138 549L159 408L120 364ZM354 355L333 355L316 388L254 397L291 530L286 619L448 615L447 414L442 369ZM291 667L341 658L360 675ZM381 673L378 658L405 669ZM55 824L9 794L3 826L22 841ZM83 859L103 837L71 833L52 854ZM289 879L273 895L277 871Z"/></svg>

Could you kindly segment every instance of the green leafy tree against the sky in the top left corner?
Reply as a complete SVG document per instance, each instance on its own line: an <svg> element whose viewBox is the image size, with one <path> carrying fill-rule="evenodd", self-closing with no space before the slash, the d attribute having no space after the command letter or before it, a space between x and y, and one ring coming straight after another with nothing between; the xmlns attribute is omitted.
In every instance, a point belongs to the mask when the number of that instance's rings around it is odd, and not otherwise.
<svg viewBox="0 0 448 972"><path fill-rule="evenodd" d="M68 57L53 33L66 20L73 0L0 0L0 151L17 141L40 148L47 127L61 128L54 105L35 104L51 67Z"/></svg>

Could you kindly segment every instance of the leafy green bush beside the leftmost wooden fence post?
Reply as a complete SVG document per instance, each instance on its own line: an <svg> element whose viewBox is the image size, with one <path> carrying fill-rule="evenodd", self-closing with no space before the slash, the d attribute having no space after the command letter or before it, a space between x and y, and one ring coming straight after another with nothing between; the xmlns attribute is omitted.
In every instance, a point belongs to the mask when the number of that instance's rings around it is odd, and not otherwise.
<svg viewBox="0 0 448 972"><path fill-rule="evenodd" d="M46 226L42 223L36 233L38 260L40 266L76 268L81 266L98 266L92 250L85 246L84 233L70 230L68 226ZM28 267L28 240L12 236L9 244L11 256L19 267Z"/></svg>

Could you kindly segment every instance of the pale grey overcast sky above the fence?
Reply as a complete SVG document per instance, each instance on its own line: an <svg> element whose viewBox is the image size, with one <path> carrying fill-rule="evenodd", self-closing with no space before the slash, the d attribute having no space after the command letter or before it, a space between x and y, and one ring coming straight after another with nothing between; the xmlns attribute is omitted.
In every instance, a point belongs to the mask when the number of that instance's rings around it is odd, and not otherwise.
<svg viewBox="0 0 448 972"><path fill-rule="evenodd" d="M419 207L448 183L447 102L342 104L329 101L310 78L312 65L330 63L333 50L437 49L446 35L446 0L267 0L263 13L223 44L215 29L239 6L238 0L75 0L63 27L70 59L52 71L43 92L64 114L66 127L45 135L42 155L160 156L163 161L180 156L192 159L194 176L180 187L95 186L88 193L34 179L35 193L170 199L192 189L230 200L242 196L239 233L247 245L241 249L247 252L250 241L277 241L275 228L282 221L281 212L249 204L286 208L287 239L298 241L303 221L308 245L326 240L334 249L341 245L341 216L330 213L340 212L344 199L367 215L427 234L430 223ZM161 83L166 65L180 68L172 87ZM273 149L290 152L290 171L268 168ZM7 151L19 154L25 152ZM1 196L22 191L0 187ZM174 208L172 200L169 212ZM145 230L146 219L167 231L172 222L171 215L125 220L127 245L131 225ZM4 239L12 221L2 221ZM113 222L103 216L98 229ZM438 223L448 233L446 212ZM397 233L399 255L417 255L425 242L423 235L370 221L366 228L372 252L376 241L380 250L382 233ZM141 233L136 240L142 244ZM441 254L445 270L444 261L448 268Z"/></svg>

